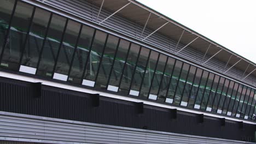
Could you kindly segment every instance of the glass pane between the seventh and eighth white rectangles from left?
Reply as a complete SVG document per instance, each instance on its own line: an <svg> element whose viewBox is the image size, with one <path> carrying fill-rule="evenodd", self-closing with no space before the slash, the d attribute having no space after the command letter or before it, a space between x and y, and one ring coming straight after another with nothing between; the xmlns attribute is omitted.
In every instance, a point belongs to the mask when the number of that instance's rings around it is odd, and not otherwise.
<svg viewBox="0 0 256 144"><path fill-rule="evenodd" d="M176 86L176 92L174 94L173 104L179 105L182 98L183 89L185 82L187 81L187 76L189 73L190 64L184 63L182 67L181 75L179 76L178 85Z"/></svg>

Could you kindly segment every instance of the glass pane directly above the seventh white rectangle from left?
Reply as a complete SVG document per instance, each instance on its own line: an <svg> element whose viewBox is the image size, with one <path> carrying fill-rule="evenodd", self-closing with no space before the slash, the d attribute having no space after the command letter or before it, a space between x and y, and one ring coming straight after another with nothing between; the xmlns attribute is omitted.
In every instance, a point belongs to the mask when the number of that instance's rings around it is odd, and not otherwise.
<svg viewBox="0 0 256 144"><path fill-rule="evenodd" d="M168 98L168 99L173 100L173 98L174 98L174 93L176 90L176 86L178 85L179 75L181 75L182 67L183 67L183 62L177 60L175 67L174 67L173 74L172 74L171 83L170 83L170 86L169 86L169 89L167 92L167 96L166 96L166 98Z"/></svg>

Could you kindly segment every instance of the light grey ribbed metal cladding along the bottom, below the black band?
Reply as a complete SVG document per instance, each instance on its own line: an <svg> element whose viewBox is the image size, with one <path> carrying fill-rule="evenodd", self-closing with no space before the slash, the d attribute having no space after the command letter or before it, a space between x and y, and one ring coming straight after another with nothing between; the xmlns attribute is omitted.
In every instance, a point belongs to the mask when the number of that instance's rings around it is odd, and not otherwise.
<svg viewBox="0 0 256 144"><path fill-rule="evenodd" d="M0 140L51 143L252 143L0 112Z"/></svg>

